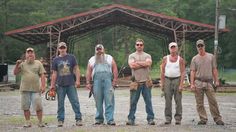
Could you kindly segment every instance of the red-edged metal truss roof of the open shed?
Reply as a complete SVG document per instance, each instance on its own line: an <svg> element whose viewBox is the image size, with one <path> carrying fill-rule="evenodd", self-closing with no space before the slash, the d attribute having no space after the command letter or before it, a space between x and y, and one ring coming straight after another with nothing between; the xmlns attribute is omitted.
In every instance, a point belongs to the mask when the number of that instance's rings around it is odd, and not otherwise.
<svg viewBox="0 0 236 132"><path fill-rule="evenodd" d="M30 44L47 43L50 59L57 55L56 45L70 36L83 35L91 30L122 25L150 35L168 38L179 45L185 40L209 39L214 36L214 25L203 24L125 5L109 5L57 20L8 31L5 35ZM228 32L228 29L219 33Z"/></svg>

